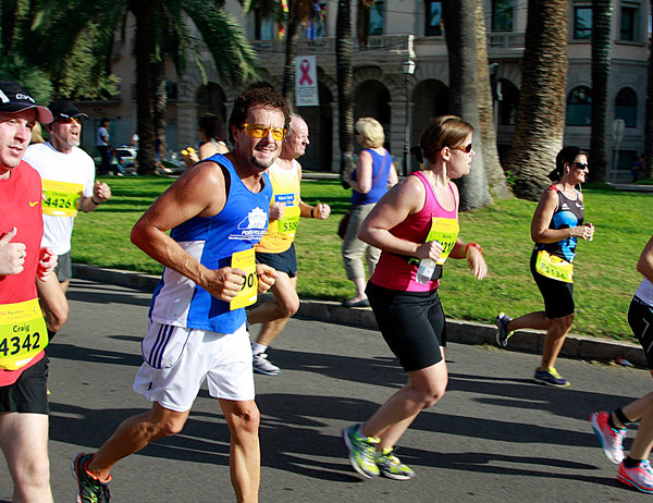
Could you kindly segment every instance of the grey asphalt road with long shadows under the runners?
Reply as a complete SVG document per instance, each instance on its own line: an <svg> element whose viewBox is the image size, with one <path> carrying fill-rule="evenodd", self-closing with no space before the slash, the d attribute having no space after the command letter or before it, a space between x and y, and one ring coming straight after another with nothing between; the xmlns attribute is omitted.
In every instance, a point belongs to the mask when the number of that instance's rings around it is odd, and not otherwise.
<svg viewBox="0 0 653 503"><path fill-rule="evenodd" d="M56 502L74 501L73 455L149 408L132 391L149 293L75 280L69 298L70 320L49 349ZM649 392L646 370L560 359L571 388L558 390L530 380L538 355L449 344L447 393L401 441L416 478L362 480L341 429L369 417L406 379L380 334L293 319L269 353L283 373L256 376L262 503L651 501L617 482L588 421ZM227 464L226 425L205 388L181 434L114 467L112 501L235 501ZM0 463L0 502L11 490Z"/></svg>

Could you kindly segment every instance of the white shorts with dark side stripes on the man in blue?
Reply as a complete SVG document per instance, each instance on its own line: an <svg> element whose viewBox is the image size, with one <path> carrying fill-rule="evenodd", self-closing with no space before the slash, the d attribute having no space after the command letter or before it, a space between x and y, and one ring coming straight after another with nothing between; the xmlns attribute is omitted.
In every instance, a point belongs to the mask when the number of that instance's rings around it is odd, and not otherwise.
<svg viewBox="0 0 653 503"><path fill-rule="evenodd" d="M205 380L215 398L254 400L245 324L225 334L150 321L141 352L145 363L136 373L134 391L164 408L189 410Z"/></svg>

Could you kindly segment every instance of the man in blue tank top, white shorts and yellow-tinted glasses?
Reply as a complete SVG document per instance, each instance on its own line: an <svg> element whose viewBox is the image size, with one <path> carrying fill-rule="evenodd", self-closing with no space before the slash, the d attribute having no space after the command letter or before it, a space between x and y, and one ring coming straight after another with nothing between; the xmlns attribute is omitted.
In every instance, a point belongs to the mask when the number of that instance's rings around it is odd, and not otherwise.
<svg viewBox="0 0 653 503"><path fill-rule="evenodd" d="M272 197L264 171L281 152L288 122L288 107L273 89L241 95L229 121L233 151L186 171L134 225L133 243L165 266L134 382L152 408L125 420L97 453L75 456L78 502L109 501L115 463L178 433L205 379L231 432L236 499L258 501L259 410L245 306L276 277L255 263L254 245L266 233Z"/></svg>

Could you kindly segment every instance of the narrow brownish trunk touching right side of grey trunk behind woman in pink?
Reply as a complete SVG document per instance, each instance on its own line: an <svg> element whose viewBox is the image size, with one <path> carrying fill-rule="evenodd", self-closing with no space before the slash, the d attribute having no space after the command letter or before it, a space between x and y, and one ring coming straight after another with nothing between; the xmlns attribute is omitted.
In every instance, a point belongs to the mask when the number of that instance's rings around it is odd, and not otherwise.
<svg viewBox="0 0 653 503"><path fill-rule="evenodd" d="M483 0L476 2L476 39L477 39L477 74L479 79L479 126L483 140L483 164L485 176L492 193L500 199L507 199L512 191L506 182L506 174L498 160L496 149L496 131L494 130L494 100L488 69L488 33Z"/></svg>

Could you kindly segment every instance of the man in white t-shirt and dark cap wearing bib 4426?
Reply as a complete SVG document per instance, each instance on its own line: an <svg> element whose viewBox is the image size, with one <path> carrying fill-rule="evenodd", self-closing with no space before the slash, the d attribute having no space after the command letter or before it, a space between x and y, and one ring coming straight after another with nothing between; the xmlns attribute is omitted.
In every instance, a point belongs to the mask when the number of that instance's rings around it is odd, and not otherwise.
<svg viewBox="0 0 653 503"><path fill-rule="evenodd" d="M50 339L67 318L65 292L72 278L71 236L78 210L93 211L111 197L106 183L95 182L95 162L78 145L82 113L71 101L50 105L53 121L47 125L50 139L34 144L23 159L36 169L44 187L44 246L59 256L57 274L38 284L41 308L48 322Z"/></svg>

